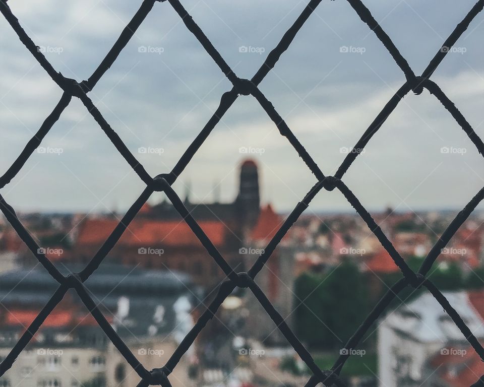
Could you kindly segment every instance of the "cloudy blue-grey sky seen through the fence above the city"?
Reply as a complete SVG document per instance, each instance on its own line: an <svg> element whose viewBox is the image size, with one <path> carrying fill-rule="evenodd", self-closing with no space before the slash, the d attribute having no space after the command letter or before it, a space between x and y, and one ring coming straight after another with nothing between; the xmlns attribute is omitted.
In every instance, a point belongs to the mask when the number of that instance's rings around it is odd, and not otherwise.
<svg viewBox="0 0 484 387"><path fill-rule="evenodd" d="M251 78L306 1L181 0L237 76ZM474 5L473 0L365 0L416 74ZM64 76L87 79L140 6L139 1L9 1L34 42ZM484 138L484 13L432 79ZM0 173L4 173L62 95L0 18ZM350 52L340 52L342 46ZM243 48L240 48L243 47ZM246 51L244 47L248 47ZM146 51L146 52L144 52ZM242 51L242 52L241 52ZM344 51L344 49L343 49ZM383 105L405 82L401 70L344 0L324 0L260 89L326 174L333 174ZM226 80L168 2L152 12L89 94L152 175L171 170L208 121ZM389 147L392 142L394 145ZM127 209L144 184L73 98L42 143L2 189L19 210ZM140 154L139 148L158 148ZM238 164L260 166L263 202L287 211L315 183L253 97L239 97L174 184L194 201L236 195ZM455 153L442 153L447 147ZM460 126L424 91L400 102L343 180L372 209L462 208L484 185L482 157ZM189 188L187 188L187 186ZM161 199L155 194L153 203ZM315 210L349 210L321 191ZM482 208L482 206L480 207Z"/></svg>

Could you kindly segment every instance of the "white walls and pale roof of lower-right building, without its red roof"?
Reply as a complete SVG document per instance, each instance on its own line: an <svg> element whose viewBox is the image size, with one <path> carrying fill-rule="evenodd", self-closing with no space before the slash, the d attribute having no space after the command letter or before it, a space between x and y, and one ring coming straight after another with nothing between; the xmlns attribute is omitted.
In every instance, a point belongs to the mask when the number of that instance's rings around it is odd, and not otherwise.
<svg viewBox="0 0 484 387"><path fill-rule="evenodd" d="M476 338L484 338L484 320L468 293L444 292L444 296ZM380 321L379 385L430 385L429 360L436 354L452 354L456 348L469 348L469 343L432 294L422 294Z"/></svg>

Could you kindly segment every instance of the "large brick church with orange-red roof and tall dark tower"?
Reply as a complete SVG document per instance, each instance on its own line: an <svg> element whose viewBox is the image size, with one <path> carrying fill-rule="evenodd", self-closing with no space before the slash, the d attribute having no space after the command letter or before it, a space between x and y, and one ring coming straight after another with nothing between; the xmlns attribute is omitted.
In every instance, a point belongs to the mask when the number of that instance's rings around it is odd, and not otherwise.
<svg viewBox="0 0 484 387"><path fill-rule="evenodd" d="M261 209L259 172L253 160L241 163L238 194L232 203L192 203L187 195L184 204L237 272L246 269L246 257L239 248L246 246L252 236L271 234L280 223L270 206ZM85 219L79 226L72 258L87 263L117 223L115 217ZM225 276L167 201L154 206L145 204L106 260L187 273L205 288L212 288Z"/></svg>

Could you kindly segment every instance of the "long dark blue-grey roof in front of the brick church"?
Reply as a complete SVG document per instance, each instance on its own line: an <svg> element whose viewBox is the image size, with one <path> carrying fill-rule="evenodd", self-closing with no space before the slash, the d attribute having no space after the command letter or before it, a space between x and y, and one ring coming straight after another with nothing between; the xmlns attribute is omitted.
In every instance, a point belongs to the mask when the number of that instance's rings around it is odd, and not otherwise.
<svg viewBox="0 0 484 387"><path fill-rule="evenodd" d="M79 272L81 269L82 267L73 265L59 268L63 274ZM0 274L2 304L7 307L14 305L18 313L32 312L32 319L57 287L56 281L42 267L31 271L21 269ZM116 326L118 334L127 339L168 335L183 330L191 321L188 313L191 312L196 297L192 292L197 292L187 275L120 265L101 265L86 281L86 287L105 317ZM88 313L87 308L74 292L72 294L75 304L68 305L67 310L84 320L84 314ZM124 301L120 301L122 299ZM129 311L119 321L118 305L123 302L129 302ZM186 320L184 324L180 324L180 318ZM57 327L56 330L65 330L69 325L70 323L65 327ZM92 329L100 330L97 324L91 326ZM23 330L21 326L17 328ZM43 329L46 328L48 327ZM183 333L187 333L186 331L184 329Z"/></svg>

